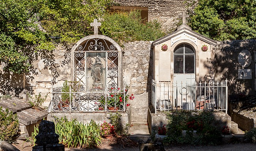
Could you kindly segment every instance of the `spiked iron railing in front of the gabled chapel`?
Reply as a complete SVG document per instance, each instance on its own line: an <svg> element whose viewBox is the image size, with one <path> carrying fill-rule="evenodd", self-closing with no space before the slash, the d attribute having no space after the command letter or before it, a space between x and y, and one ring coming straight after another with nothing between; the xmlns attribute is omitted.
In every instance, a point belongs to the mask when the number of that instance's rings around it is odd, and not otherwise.
<svg viewBox="0 0 256 151"><path fill-rule="evenodd" d="M152 81L151 103L157 111L212 110L227 113L227 80L171 83Z"/></svg>

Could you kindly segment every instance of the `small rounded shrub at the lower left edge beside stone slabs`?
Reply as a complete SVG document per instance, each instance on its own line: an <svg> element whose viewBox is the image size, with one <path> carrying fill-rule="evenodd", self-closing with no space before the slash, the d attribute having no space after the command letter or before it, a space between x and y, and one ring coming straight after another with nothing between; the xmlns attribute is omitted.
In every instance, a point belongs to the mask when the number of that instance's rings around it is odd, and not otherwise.
<svg viewBox="0 0 256 151"><path fill-rule="evenodd" d="M5 111L0 107L0 140L10 143L15 142L18 135L19 121L16 114L12 114L8 109Z"/></svg>

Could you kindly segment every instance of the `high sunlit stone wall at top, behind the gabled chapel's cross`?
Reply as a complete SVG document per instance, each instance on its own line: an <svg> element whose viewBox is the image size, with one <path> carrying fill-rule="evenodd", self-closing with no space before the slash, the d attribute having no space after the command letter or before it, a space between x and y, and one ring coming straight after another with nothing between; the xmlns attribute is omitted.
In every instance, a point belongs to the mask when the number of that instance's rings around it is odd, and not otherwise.
<svg viewBox="0 0 256 151"><path fill-rule="evenodd" d="M148 21L157 19L162 29L171 32L177 28L178 16L187 11L186 0L115 0L121 6L148 7ZM189 2L192 0L188 0ZM190 9L193 9L194 6Z"/></svg>

